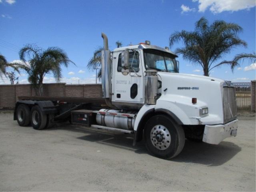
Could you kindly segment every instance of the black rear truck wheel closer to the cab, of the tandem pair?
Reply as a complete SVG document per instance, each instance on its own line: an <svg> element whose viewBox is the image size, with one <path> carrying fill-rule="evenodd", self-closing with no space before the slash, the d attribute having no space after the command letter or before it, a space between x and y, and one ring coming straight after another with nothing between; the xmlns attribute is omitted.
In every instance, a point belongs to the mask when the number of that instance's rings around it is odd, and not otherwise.
<svg viewBox="0 0 256 192"><path fill-rule="evenodd" d="M47 116L37 105L33 106L31 109L30 122L32 127L36 130L41 130L46 127Z"/></svg>

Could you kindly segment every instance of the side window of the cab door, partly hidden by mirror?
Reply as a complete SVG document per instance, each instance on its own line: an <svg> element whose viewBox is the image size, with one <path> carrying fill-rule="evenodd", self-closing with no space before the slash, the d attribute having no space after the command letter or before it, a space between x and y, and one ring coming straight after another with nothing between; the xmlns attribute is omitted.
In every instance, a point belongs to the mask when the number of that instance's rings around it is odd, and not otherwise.
<svg viewBox="0 0 256 192"><path fill-rule="evenodd" d="M117 71L122 72L122 54L120 53L118 56L118 66L117 66ZM136 52L130 52L129 53L129 67L132 68L130 69L130 72L139 72L139 64L140 64L140 59L139 59L139 53Z"/></svg>

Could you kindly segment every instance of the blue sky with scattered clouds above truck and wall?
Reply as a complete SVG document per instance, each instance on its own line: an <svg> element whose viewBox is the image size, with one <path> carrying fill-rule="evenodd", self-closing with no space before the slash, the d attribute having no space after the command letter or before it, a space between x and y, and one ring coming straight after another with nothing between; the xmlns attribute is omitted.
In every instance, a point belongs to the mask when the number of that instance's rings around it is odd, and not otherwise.
<svg viewBox="0 0 256 192"><path fill-rule="evenodd" d="M150 40L165 47L172 32L194 30L202 16L209 23L235 22L244 28L240 38L248 46L235 48L223 58L230 60L241 52L255 52L255 14L255 0L0 0L0 54L12 62L19 59L18 50L25 44L58 46L77 65L63 68L62 82L94 83L95 72L88 71L86 65L95 48L102 45L101 32L108 35L112 49L117 40L123 45ZM172 50L180 46L182 42ZM180 72L203 74L200 66L182 56L178 60ZM228 66L215 68L210 76L249 82L256 76L256 64L251 64L244 62L234 73ZM24 73L20 83L26 82ZM48 75L44 82L55 81ZM0 80L3 83L9 84Z"/></svg>

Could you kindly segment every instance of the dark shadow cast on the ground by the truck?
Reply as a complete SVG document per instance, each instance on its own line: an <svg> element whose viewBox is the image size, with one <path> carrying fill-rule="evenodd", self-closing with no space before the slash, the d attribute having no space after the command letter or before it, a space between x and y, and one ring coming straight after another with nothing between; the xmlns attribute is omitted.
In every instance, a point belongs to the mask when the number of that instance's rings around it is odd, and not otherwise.
<svg viewBox="0 0 256 192"><path fill-rule="evenodd" d="M48 130L60 129L86 134L78 137L81 140L131 150L138 154L148 154L144 141L137 142L136 146L132 146L133 136L130 134L95 130L95 128L84 128L82 126L70 126L70 124L57 125ZM186 140L182 152L170 161L220 166L228 162L240 151L241 148L232 142L222 141L218 145L211 145L204 142L198 143Z"/></svg>

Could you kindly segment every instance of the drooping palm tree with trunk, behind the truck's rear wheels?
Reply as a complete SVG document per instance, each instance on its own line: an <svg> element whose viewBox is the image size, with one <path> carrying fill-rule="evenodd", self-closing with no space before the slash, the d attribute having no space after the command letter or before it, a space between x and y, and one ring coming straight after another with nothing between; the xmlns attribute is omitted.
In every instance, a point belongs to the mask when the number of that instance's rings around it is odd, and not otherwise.
<svg viewBox="0 0 256 192"><path fill-rule="evenodd" d="M57 82L62 77L62 65L68 67L73 63L66 52L58 47L49 47L46 50L38 46L26 45L20 52L20 60L16 66L28 73L28 81L34 86L36 94L43 95L43 80L46 74L53 74ZM28 61L26 60L28 57Z"/></svg>

